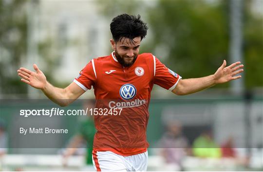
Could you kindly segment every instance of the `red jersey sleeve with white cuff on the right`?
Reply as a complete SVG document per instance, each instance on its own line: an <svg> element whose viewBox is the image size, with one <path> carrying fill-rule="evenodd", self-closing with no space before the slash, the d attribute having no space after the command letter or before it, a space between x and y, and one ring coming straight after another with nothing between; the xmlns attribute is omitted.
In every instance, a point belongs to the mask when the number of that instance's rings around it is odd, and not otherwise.
<svg viewBox="0 0 263 172"><path fill-rule="evenodd" d="M158 58L154 56L153 58L155 61L154 84L170 91L173 90L182 77L171 69L168 69Z"/></svg>

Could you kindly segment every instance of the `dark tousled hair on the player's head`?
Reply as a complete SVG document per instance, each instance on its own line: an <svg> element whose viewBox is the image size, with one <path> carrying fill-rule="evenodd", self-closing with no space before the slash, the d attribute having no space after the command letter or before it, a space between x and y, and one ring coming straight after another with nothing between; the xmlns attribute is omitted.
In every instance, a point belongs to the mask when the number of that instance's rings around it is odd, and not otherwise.
<svg viewBox="0 0 263 172"><path fill-rule="evenodd" d="M140 15L119 15L113 18L110 26L115 42L121 41L122 38L130 38L130 41L133 42L133 38L137 36L140 36L142 40L145 38L148 30L147 24L141 20Z"/></svg>

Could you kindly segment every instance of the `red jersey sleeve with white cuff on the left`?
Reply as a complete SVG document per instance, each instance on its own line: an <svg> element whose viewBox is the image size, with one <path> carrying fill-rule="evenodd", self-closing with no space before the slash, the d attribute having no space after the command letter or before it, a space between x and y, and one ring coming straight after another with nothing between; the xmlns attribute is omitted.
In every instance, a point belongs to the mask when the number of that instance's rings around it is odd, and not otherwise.
<svg viewBox="0 0 263 172"><path fill-rule="evenodd" d="M94 86L96 75L94 68L94 63L90 61L85 68L83 68L80 72L78 77L74 79L73 82L75 82L78 86L80 86L82 89L87 91L88 89L91 89L92 86Z"/></svg>

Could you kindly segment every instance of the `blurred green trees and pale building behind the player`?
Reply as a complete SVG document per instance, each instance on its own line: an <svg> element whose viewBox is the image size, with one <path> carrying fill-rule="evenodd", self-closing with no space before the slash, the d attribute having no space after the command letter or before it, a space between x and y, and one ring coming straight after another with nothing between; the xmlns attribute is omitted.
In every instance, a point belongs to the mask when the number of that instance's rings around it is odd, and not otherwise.
<svg viewBox="0 0 263 172"><path fill-rule="evenodd" d="M60 4L59 4L60 3ZM78 6L78 10L65 12L63 7ZM263 86L263 10L259 0L244 0L242 3L242 63L244 88L262 88ZM59 5L61 7L59 8ZM80 8L82 6L82 8ZM83 7L84 6L84 7ZM83 9L84 8L84 9ZM96 14L88 16L88 11L95 8ZM53 11L50 9L54 9ZM94 13L94 12L92 12ZM0 1L0 37L1 37L1 94L21 95L28 93L25 84L19 81L16 70L22 65L39 62L48 80L56 86L67 86L73 79L58 80L57 68L65 70L68 66L61 61L68 61L66 48L76 47L75 51L86 52L77 57L90 60L111 52L109 23L116 15L128 13L140 14L149 25L149 33L143 40L140 52L152 52L156 57L175 70L183 78L202 77L213 74L224 59L228 64L230 42L230 1L228 0L159 0L159 1L41 1L41 0L1 0ZM54 16L54 14L56 16ZM76 15L77 14L77 15ZM60 18L57 16L61 16ZM98 25L105 35L102 39L93 38L96 29L85 31L87 39L81 42L74 35L81 34L79 28L71 29L75 17L78 27ZM86 17L86 19L85 19ZM57 21L59 20L59 21ZM61 20L61 21L60 21ZM69 20L65 22L65 20ZM99 23L106 23L100 26ZM50 24L50 25L48 25ZM74 24L74 22L73 22ZM85 28L84 28L85 29ZM73 31L70 31L73 30ZM71 34L73 32L73 36ZM89 34L90 32L91 34ZM37 36L36 36L37 35ZM80 35L81 36L81 35ZM94 40L95 39L95 40ZM32 41L33 40L33 41ZM57 40L57 41L56 41ZM96 44L103 41L104 48ZM95 44L95 45L94 45ZM92 53L92 51L94 51ZM64 53L65 52L65 53ZM100 54L98 53L100 52ZM79 60L70 56L72 64ZM87 63L88 60L85 62ZM77 75L86 64L71 70ZM215 88L229 88L229 84Z"/></svg>

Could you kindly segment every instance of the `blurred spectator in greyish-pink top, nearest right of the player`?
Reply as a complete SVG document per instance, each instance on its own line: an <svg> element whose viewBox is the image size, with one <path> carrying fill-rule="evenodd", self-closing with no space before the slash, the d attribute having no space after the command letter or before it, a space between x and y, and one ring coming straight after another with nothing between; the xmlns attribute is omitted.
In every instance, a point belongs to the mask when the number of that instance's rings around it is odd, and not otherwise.
<svg viewBox="0 0 263 172"><path fill-rule="evenodd" d="M182 125L178 121L171 121L167 131L159 141L162 148L160 153L172 171L182 171L182 160L188 152L188 139L182 134Z"/></svg>

